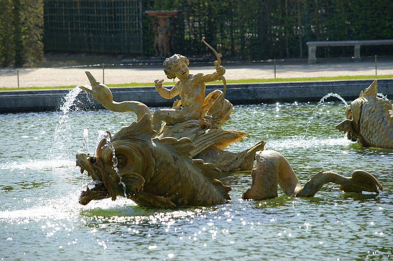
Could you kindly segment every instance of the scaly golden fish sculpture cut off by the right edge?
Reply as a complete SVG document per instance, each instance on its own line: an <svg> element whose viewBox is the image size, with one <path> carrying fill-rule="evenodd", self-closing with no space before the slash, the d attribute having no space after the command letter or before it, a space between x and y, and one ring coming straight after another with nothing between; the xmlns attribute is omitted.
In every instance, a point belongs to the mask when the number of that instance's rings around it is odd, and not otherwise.
<svg viewBox="0 0 393 261"><path fill-rule="evenodd" d="M346 118L336 129L348 133L348 139L362 147L393 148L392 103L377 97L377 80L374 80L359 98L345 110Z"/></svg>

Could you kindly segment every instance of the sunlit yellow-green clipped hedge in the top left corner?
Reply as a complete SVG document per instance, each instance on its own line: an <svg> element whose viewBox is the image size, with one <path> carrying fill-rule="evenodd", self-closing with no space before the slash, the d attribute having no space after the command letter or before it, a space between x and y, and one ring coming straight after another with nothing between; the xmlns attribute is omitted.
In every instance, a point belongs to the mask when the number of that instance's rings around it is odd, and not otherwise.
<svg viewBox="0 0 393 261"><path fill-rule="evenodd" d="M0 0L0 66L28 66L43 57L43 0Z"/></svg>

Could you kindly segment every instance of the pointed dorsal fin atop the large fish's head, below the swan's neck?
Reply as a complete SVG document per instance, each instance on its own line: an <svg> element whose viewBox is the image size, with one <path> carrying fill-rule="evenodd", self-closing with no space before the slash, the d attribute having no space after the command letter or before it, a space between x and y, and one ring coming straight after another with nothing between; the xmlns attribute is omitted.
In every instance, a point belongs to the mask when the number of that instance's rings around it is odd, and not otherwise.
<svg viewBox="0 0 393 261"><path fill-rule="evenodd" d="M151 126L150 117L148 114L145 114L139 121L133 122L129 126L121 128L121 130L119 130L119 132L113 136L113 141L132 139L136 136L139 138L143 138L143 136L145 136L146 138L151 139L151 137L155 135L157 135L157 132L154 131Z"/></svg>

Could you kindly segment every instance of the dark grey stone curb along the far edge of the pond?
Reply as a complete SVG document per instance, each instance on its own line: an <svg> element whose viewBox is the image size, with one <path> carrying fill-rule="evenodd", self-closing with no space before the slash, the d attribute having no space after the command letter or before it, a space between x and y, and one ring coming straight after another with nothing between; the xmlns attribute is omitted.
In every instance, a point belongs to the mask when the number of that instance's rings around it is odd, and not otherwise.
<svg viewBox="0 0 393 261"><path fill-rule="evenodd" d="M225 98L233 104L318 101L328 93L336 93L344 99L353 100L371 82L372 80L345 80L228 84ZM216 89L222 90L223 85L207 85L206 94ZM111 90L115 101L135 100L149 107L171 106L174 100L162 98L154 87L116 87ZM0 92L0 113L56 111L69 91L70 89ZM378 93L388 97L393 95L393 79L379 79ZM77 97L79 104L84 104L84 110L102 108L101 104L91 102L88 96L90 95L81 93Z"/></svg>

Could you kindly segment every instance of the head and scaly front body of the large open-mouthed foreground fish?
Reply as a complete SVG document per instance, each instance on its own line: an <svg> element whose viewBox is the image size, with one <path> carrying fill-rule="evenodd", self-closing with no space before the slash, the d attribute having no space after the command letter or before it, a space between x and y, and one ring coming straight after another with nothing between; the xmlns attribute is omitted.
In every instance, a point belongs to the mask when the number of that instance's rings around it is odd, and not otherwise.
<svg viewBox="0 0 393 261"><path fill-rule="evenodd" d="M230 199L230 187L218 178L214 164L192 159L190 139L157 138L147 114L122 128L110 138L117 158L104 139L96 156L77 154L77 165L86 170L97 185L83 191L79 202L125 196L144 207L212 205Z"/></svg>

